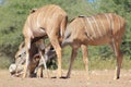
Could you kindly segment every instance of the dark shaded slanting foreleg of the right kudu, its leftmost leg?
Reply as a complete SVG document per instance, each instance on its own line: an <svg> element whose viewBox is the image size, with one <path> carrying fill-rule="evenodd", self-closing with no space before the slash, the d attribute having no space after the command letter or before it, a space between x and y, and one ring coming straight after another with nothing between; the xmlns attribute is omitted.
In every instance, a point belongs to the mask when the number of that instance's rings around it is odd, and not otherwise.
<svg viewBox="0 0 131 87"><path fill-rule="evenodd" d="M69 71L67 74L67 78L70 77L72 64L73 64L74 59L76 58L76 54L78 54L78 48L72 48L72 54L71 54L70 66L69 66Z"/></svg>

